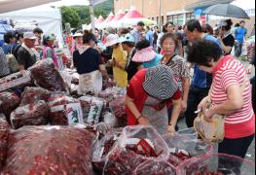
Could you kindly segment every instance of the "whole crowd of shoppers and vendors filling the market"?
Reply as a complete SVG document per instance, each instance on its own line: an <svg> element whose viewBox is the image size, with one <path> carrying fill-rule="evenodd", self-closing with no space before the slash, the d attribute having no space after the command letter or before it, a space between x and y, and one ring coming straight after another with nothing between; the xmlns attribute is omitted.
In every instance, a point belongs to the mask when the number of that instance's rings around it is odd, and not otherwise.
<svg viewBox="0 0 256 175"><path fill-rule="evenodd" d="M224 115L218 152L245 157L255 133L255 77L248 78L255 65L255 34L244 25L243 20L233 27L231 19L216 26L192 19L184 26L167 22L163 31L142 21L133 29L73 30L63 34L71 57L58 48L54 33L8 32L0 48L0 78L51 58L59 71L76 69L78 94L97 93L112 82L123 90L128 125L153 125L164 135L179 129L179 118L193 127L195 111L208 122ZM240 62L244 50L246 68Z"/></svg>

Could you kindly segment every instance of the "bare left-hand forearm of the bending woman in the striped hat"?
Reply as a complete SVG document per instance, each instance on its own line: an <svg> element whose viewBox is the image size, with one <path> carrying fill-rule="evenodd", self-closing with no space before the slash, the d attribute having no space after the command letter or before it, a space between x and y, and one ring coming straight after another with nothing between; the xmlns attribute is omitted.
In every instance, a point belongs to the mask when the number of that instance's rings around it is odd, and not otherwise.
<svg viewBox="0 0 256 175"><path fill-rule="evenodd" d="M134 104L134 99L130 98L128 94L125 96L125 103L128 106L129 111L138 120L138 123L145 125L149 124L148 120L142 117L141 113L138 111L136 105Z"/></svg>

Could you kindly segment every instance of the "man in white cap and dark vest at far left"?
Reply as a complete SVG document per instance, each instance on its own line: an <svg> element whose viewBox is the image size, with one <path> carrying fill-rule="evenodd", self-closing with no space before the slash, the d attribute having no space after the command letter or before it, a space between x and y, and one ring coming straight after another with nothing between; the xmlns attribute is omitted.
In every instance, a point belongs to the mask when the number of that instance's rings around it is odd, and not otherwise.
<svg viewBox="0 0 256 175"><path fill-rule="evenodd" d="M34 50L37 37L32 32L26 32L23 36L23 43L18 50L19 70L26 70L37 61L36 51Z"/></svg>

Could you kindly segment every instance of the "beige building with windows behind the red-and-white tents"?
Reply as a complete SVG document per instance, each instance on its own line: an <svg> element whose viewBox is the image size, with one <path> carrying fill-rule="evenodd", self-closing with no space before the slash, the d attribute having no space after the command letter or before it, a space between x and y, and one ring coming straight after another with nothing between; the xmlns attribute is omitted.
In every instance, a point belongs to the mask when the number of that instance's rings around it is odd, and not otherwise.
<svg viewBox="0 0 256 175"><path fill-rule="evenodd" d="M183 25L191 18L205 20L202 12L207 7L218 3L231 3L234 0L114 0L115 14L119 11L128 12L130 7L135 7L145 18L150 18L162 25L166 21ZM161 17L161 18L160 18ZM249 31L253 27L254 18L246 21ZM239 19L234 19L238 22ZM234 22L235 22L234 21ZM210 20L214 25L216 20Z"/></svg>

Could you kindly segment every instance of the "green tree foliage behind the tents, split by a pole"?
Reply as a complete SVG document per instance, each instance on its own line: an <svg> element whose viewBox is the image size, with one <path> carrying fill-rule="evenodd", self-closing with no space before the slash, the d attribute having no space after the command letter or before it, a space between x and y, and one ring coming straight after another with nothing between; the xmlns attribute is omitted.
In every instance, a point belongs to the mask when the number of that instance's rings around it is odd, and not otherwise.
<svg viewBox="0 0 256 175"><path fill-rule="evenodd" d="M110 12L113 12L114 9L114 1L108 0L101 4L98 4L93 8L94 16L103 18L107 18ZM71 6L66 7L63 6L60 8L62 15L62 25L64 27L64 23L69 22L71 27L81 28L82 24L91 23L90 17L90 9L87 6Z"/></svg>

